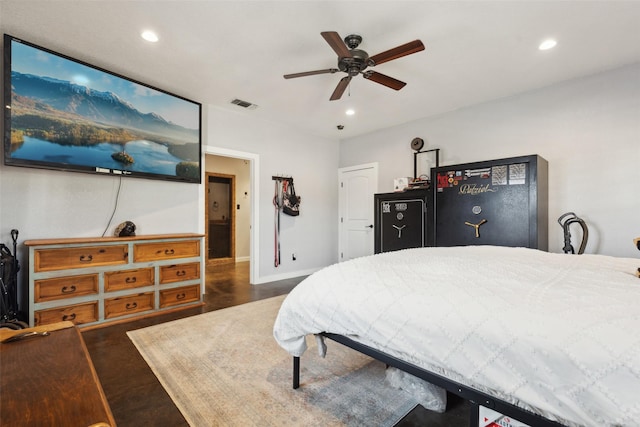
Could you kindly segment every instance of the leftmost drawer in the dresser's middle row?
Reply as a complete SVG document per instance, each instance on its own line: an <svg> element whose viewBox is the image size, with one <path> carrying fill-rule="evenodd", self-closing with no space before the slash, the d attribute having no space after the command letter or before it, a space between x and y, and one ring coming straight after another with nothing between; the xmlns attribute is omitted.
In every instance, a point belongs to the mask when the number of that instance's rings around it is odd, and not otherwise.
<svg viewBox="0 0 640 427"><path fill-rule="evenodd" d="M98 275L83 274L33 282L34 301L46 302L98 293Z"/></svg>

